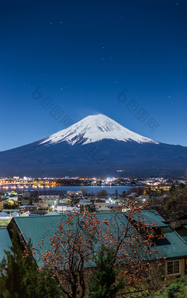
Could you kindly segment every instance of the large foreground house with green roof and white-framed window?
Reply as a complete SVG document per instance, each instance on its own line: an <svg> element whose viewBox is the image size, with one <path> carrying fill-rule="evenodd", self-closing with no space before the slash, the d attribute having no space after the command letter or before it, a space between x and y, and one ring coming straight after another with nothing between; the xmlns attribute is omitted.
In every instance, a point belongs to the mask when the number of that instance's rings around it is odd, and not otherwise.
<svg viewBox="0 0 187 298"><path fill-rule="evenodd" d="M142 215L141 217L139 217L140 214ZM116 236L118 235L119 230L123 232L123 230L126 229L127 223L129 223L128 233L132 235L136 224L142 220L145 221L147 230L152 233L154 237L153 240L156 245L154 250L156 249L158 260L160 257L164 258L162 259L162 266L160 266L158 272L160 282L163 283L164 280L166 280L165 283L171 284L176 278L186 274L187 243L155 210L142 210L141 213L135 212L135 214L133 214L133 219L130 222L126 212L96 212L95 218L99 221L101 229L106 230L106 232L108 229L110 232L111 229L113 235ZM82 220L82 214L78 215L77 219L75 218L75 221L71 226L72 230L76 229L80 220ZM18 239L20 243L23 242L24 246L28 239L31 238L32 246L36 250L34 258L40 267L43 266L40 253L45 253L46 250L51 249L51 241L49 239L56 234L57 229L59 228L59 222L63 223L63 229L69 229L67 215L65 214L56 216L36 215L34 217L28 216L25 218L14 217L7 226L7 229L10 232L12 227L15 226ZM106 222L110 222L110 224L106 226ZM114 228L114 224L116 224L116 227L118 228ZM150 228L150 224L152 225L152 229ZM138 233L138 230L136 230L136 232ZM143 230L143 232L145 231ZM165 237L161 237L164 235ZM157 236L159 238L157 238ZM44 245L41 246L42 239ZM40 253L37 249L38 243L40 244ZM96 246L96 249L97 248L98 246ZM150 260L150 256L148 255L147 257L148 260Z"/></svg>

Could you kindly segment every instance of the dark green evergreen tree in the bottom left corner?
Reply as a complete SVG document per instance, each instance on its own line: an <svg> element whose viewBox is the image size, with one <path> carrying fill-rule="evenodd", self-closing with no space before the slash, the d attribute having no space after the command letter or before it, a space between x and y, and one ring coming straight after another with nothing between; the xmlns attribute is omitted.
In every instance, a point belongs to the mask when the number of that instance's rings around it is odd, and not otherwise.
<svg viewBox="0 0 187 298"><path fill-rule="evenodd" d="M31 244L22 253L13 229L12 246L0 263L0 298L59 298L60 287L49 268L38 269Z"/></svg>

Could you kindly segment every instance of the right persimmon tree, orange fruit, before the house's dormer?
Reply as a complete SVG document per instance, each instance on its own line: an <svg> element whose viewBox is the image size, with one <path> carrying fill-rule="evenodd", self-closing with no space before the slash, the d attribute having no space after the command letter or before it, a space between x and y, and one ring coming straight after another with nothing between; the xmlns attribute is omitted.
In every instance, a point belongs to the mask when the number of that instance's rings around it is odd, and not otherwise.
<svg viewBox="0 0 187 298"><path fill-rule="evenodd" d="M102 229L102 242L106 247L113 247L115 266L119 271L116 278L124 276L126 285L118 294L126 297L126 292L129 297L129 293L157 288L162 257L156 249L155 240L165 236L161 236L160 232L153 235L152 232L153 228L159 230L159 227L153 222L148 223L141 208L132 202L129 211L115 212L108 219L104 218L103 223L108 228Z"/></svg>

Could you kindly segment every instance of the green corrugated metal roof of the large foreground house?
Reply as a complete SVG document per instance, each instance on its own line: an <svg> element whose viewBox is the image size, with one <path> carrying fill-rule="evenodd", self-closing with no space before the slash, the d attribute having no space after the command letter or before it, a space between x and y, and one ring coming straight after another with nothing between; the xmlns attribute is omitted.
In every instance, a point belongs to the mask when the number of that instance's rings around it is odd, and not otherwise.
<svg viewBox="0 0 187 298"><path fill-rule="evenodd" d="M172 231L172 229L168 228L168 225L161 222L163 218L157 212L147 210L144 212L140 212L140 214L143 214L146 223L155 222L158 226L159 223L162 226L166 226L166 239L158 240L156 243L158 255L166 258L182 257L187 255L187 243L177 234L177 232ZM79 220L82 218L82 216L82 214L79 215ZM117 233L118 228L120 231L123 231L128 223L128 218L125 212L96 213L95 217L102 224L103 235L105 234L105 230L107 231L108 229L108 226L105 224L106 220L109 221L110 233L113 233L113 235ZM139 219L138 216L137 219ZM59 222L63 223L64 229L69 228L66 220L67 215L65 214L56 216L14 217L8 225L8 228L11 227L11 225L15 222L18 226L19 231L23 233L25 241L28 242L28 240L31 239L32 246L35 249L40 250L41 253L44 253L46 252L46 250L50 251L53 249L53 247L51 246L51 240L49 240L49 238L52 237L54 234L56 235L57 229L59 228ZM84 220L82 219L82 221ZM113 225L114 222L116 222L115 225ZM72 223L73 225L71 226L71 228L72 230L74 230L76 225L78 224L78 220ZM129 233L131 234L131 232L133 234L136 233L133 226L130 226ZM42 239L43 245L41 244ZM96 249L99 248L99 245L100 243L96 243ZM40 254L38 254L37 252L35 254L35 259L38 263L38 266L43 266Z"/></svg>

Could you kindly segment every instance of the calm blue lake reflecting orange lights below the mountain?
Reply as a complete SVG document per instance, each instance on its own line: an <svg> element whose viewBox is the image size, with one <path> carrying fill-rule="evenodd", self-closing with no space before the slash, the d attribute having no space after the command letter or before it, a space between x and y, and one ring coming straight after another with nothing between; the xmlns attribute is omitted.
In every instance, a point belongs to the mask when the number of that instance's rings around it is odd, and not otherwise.
<svg viewBox="0 0 187 298"><path fill-rule="evenodd" d="M16 190L16 191L21 191L21 190L31 190L35 189L38 191L49 191L49 190L66 190L66 191L71 191L71 190L80 190L81 188L86 188L87 193L94 192L96 193L97 191L100 190L107 190L108 193L115 193L116 189L118 193L122 193L123 191L127 191L128 189L132 188L130 186L37 186L37 187L32 187L32 186L4 186L0 187L0 191L8 191L8 190Z"/></svg>

